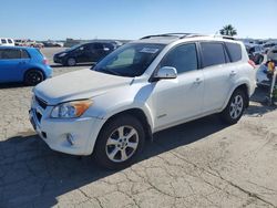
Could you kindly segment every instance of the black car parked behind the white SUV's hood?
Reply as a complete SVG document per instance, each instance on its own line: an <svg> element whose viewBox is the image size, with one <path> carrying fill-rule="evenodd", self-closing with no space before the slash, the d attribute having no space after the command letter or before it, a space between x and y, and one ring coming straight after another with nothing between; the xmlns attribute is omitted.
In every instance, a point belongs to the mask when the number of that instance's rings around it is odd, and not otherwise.
<svg viewBox="0 0 277 208"><path fill-rule="evenodd" d="M109 53L117 49L119 42L89 42L74 45L54 54L54 63L73 66L76 63L99 62Z"/></svg>

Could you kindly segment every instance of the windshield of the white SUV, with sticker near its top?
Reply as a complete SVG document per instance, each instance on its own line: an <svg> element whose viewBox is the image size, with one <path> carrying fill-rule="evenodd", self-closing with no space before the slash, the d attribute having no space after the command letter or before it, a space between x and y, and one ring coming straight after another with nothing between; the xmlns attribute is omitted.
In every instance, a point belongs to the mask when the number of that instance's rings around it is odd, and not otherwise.
<svg viewBox="0 0 277 208"><path fill-rule="evenodd" d="M129 43L109 54L91 70L119 76L140 76L164 46L154 43Z"/></svg>

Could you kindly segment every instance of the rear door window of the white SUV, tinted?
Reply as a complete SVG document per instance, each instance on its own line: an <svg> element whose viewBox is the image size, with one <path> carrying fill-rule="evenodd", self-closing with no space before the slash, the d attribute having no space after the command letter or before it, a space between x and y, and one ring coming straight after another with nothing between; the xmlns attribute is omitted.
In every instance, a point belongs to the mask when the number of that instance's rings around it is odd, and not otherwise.
<svg viewBox="0 0 277 208"><path fill-rule="evenodd" d="M225 63L225 52L222 43L201 43L203 67Z"/></svg>

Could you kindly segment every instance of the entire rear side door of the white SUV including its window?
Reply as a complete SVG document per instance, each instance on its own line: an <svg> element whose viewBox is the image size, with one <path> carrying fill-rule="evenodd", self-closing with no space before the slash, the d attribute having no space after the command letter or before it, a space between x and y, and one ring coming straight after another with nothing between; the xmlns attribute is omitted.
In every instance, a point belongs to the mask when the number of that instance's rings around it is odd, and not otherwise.
<svg viewBox="0 0 277 208"><path fill-rule="evenodd" d="M208 113L223 107L237 71L229 63L224 43L202 42L199 45L205 80L203 113Z"/></svg>

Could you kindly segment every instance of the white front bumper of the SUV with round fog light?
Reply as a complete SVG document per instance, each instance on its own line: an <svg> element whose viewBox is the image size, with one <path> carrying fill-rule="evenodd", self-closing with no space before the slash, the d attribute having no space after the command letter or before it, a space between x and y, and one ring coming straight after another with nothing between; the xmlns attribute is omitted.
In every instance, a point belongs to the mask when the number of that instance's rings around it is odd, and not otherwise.
<svg viewBox="0 0 277 208"><path fill-rule="evenodd" d="M71 155L92 154L104 119L95 117L51 118L47 115L50 115L52 106L43 110L37 102L33 103L29 111L30 122L51 149Z"/></svg>

